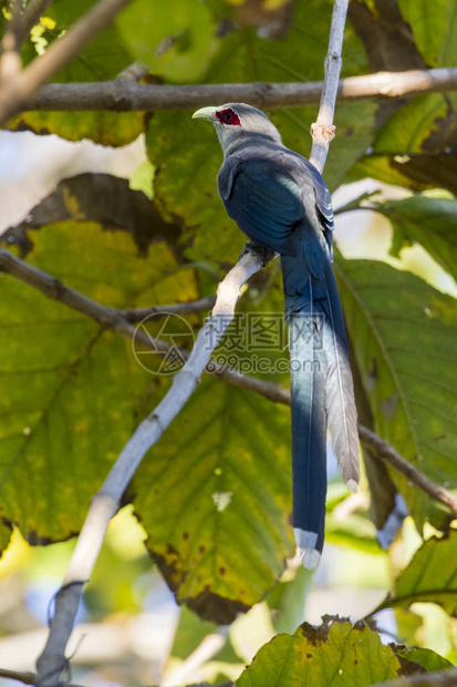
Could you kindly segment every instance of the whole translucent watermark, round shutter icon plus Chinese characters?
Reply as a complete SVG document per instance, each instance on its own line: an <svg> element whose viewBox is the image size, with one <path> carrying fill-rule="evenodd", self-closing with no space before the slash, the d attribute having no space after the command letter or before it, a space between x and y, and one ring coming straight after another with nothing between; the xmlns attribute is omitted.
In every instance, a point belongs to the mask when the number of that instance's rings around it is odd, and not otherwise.
<svg viewBox="0 0 457 687"><path fill-rule="evenodd" d="M236 312L233 318L209 318L202 332L204 350L211 353L207 371L271 376L319 369L322 331L323 316L319 314L293 315L289 334L282 312ZM148 372L173 376L185 365L184 351L190 351L195 339L186 318L156 312L137 325L133 352Z"/></svg>

